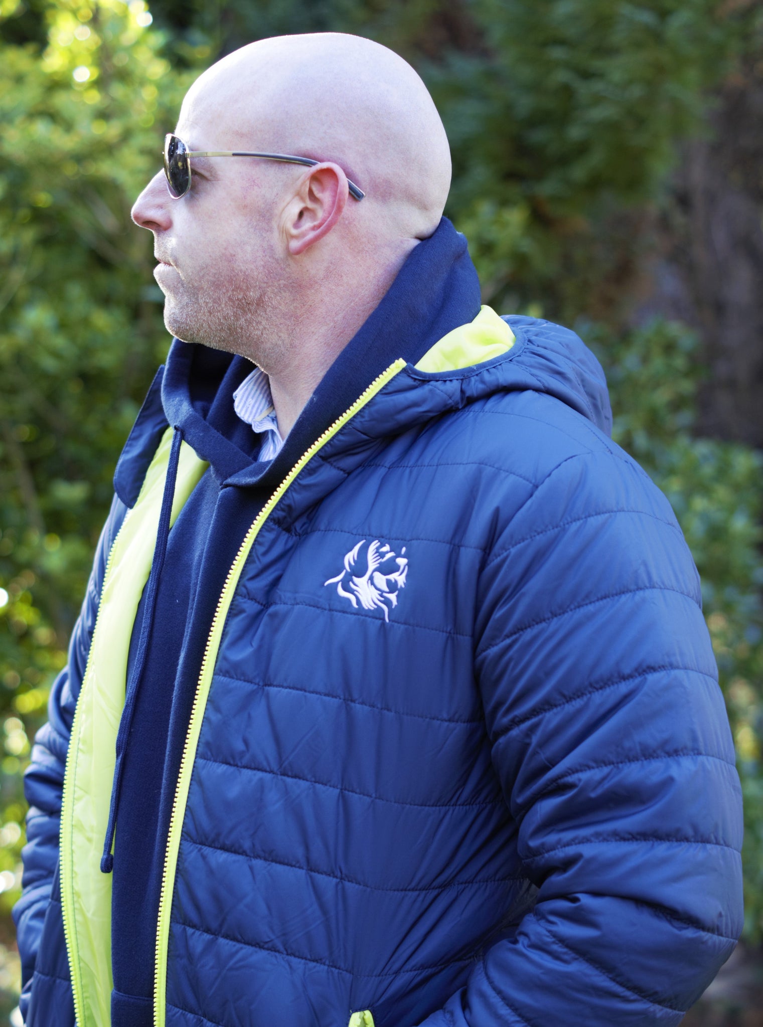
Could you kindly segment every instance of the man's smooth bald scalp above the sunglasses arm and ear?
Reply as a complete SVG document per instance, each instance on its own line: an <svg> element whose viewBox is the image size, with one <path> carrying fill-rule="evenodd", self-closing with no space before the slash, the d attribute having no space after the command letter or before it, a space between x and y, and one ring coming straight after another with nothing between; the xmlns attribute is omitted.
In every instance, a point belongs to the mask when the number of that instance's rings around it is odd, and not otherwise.
<svg viewBox="0 0 763 1027"><path fill-rule="evenodd" d="M196 80L181 121L214 124L231 149L335 161L367 194L357 214L411 238L431 235L448 198L450 149L426 86L359 36L243 46Z"/></svg>

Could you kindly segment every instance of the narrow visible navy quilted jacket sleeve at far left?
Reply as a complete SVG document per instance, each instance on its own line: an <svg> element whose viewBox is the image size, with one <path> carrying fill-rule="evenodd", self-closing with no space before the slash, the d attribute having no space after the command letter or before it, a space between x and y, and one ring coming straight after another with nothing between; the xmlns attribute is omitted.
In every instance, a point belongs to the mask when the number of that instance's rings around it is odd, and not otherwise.
<svg viewBox="0 0 763 1027"><path fill-rule="evenodd" d="M31 761L24 775L24 793L30 808L27 814L27 844L22 850L23 891L13 907L22 959L20 1007L24 1016L29 1005L45 912L59 863L61 799L74 710L87 663L106 563L125 514L126 507L115 497L96 550L82 609L72 632L67 665L50 689L48 721L35 736Z"/></svg>

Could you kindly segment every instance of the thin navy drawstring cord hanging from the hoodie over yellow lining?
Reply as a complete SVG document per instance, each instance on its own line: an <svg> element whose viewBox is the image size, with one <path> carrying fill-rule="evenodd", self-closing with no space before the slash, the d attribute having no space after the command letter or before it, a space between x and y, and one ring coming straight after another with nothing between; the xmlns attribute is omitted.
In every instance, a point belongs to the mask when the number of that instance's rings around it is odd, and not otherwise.
<svg viewBox="0 0 763 1027"><path fill-rule="evenodd" d="M110 874L114 869L114 857L111 848L114 844L114 830L116 828L117 809L119 806L119 793L122 787L122 769L124 767L124 753L127 748L130 727L132 725L132 715L136 709L136 698L138 687L143 677L148 655L148 646L151 641L151 630L154 623L156 611L156 596L159 591L159 577L164 565L164 556L167 549L167 537L169 535L169 518L173 512L173 500L175 499L175 484L178 479L178 464L180 462L180 448L183 442L183 432L179 427L175 428L173 445L169 450L169 460L167 462L166 478L164 479L164 493L161 497L161 511L159 514L159 527L156 531L156 545L151 562L151 573L146 585L146 603L141 624L141 637L138 643L138 653L132 664L132 673L127 682L124 696L124 710L122 719L119 722L119 731L116 740L116 763L114 765L114 781L111 787L111 805L109 807L109 823L106 828L106 838L104 840L104 854L101 858L101 870L104 874Z"/></svg>

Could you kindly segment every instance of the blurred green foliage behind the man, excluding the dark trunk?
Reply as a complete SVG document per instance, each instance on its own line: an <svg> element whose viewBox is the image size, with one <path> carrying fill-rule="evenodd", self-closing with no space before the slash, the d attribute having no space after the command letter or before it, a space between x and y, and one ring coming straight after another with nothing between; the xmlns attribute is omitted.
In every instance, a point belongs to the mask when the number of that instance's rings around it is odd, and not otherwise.
<svg viewBox="0 0 763 1027"><path fill-rule="evenodd" d="M0 0L0 989L17 986L29 739L66 645L111 476L168 343L131 201L189 82L278 33L339 30L421 72L454 156L448 214L486 302L575 326L615 438L666 492L702 575L747 801L747 937L763 935L760 454L697 439L685 326L628 329L627 268L678 143L756 48L745 0ZM3 955L4 954L4 955ZM4 958L4 962L3 962Z"/></svg>

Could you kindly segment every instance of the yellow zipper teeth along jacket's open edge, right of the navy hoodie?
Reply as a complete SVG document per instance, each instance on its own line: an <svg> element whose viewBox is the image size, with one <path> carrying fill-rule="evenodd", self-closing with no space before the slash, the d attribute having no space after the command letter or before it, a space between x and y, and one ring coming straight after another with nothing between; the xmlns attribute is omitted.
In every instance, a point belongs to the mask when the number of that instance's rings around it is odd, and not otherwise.
<svg viewBox="0 0 763 1027"><path fill-rule="evenodd" d="M159 913L157 918L157 930L156 930L156 950L154 959L154 1025L155 1027L163 1027L164 1024L164 987L166 982L166 973L161 965L161 950L163 944L163 938L166 931L168 933L169 923L169 877L170 877L170 853L171 853L171 841L174 841L175 836L180 830L179 813L180 813L180 798L181 798L181 783L183 781L184 774L187 771L188 761L192 759L191 754L192 748L192 726L198 716L199 708L201 706L201 696L203 692L202 684L206 676L207 667L209 663L209 655L213 651L213 642L216 639L218 627L220 625L221 613L223 607L226 605L226 599L228 597L228 591L230 588L231 581L237 580L240 572L240 565L242 564L245 557L249 555L249 550L252 548L255 538L257 537L260 529L262 528L265 521L268 519L273 508L278 503L278 500L282 497L283 493L287 491L289 486L295 480L297 474L302 470L302 468L312 459L312 457L317 453L317 451L328 442L328 440L335 434L348 420L350 420L357 411L366 404L368 401L379 391L398 371L402 371L406 367L406 362L404 359L397 359L394 364L391 364L386 371L383 371L373 382L360 393L360 395L355 400L355 402L345 410L345 412L334 421L330 427L319 435L314 443L305 450L302 456L299 458L297 463L292 467L287 477L280 483L278 488L273 492L270 499L265 503L263 508L257 515L255 520L250 525L249 531L243 537L243 541L238 547L238 553L231 564L230 570L225 578L225 584L223 585L223 591L220 594L217 607L215 609L215 616L212 619L212 626L209 627L209 634L206 636L206 645L204 646L204 655L201 659L201 667L199 670L198 680L196 682L196 693L193 697L193 706L191 707L191 717L188 722L188 730L186 731L186 740L183 745L183 756L180 762L180 771L178 773L178 784L175 789L175 797L173 799L173 809L169 816L169 831L167 833L167 844L164 852L164 867L161 874L161 890L159 892ZM227 615L227 610L226 610ZM195 745L193 746L195 754ZM185 803L184 803L185 807ZM173 877L174 868L171 868ZM165 923L166 921L166 923ZM81 1021L77 1021L81 1027Z"/></svg>

